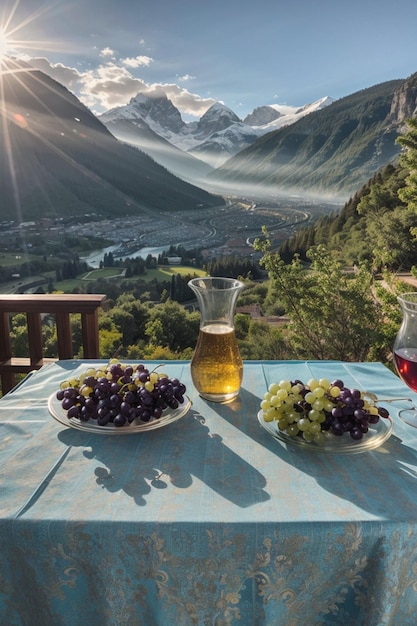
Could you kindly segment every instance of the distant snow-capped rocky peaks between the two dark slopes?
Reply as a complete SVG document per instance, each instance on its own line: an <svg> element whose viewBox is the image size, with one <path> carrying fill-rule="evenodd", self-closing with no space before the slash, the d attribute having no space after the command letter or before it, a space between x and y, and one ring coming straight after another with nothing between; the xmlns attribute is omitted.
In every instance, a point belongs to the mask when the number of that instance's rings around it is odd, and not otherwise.
<svg viewBox="0 0 417 626"><path fill-rule="evenodd" d="M259 137L331 102L331 98L322 98L303 107L257 107L243 121L216 102L200 120L185 123L165 92L159 90L152 95L138 93L128 104L103 113L99 119L118 139L139 147L184 180L202 184L213 168Z"/></svg>

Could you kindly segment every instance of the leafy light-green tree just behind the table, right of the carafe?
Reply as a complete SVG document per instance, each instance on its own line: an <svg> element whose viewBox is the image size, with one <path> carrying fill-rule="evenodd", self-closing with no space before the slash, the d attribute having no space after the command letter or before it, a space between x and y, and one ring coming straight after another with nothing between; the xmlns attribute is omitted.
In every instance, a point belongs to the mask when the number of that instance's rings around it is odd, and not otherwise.
<svg viewBox="0 0 417 626"><path fill-rule="evenodd" d="M285 264L268 244L264 251L262 264L291 319L286 338L292 358L365 361L371 352L375 358L378 345L379 359L387 360L383 311L368 268L346 273L324 245L308 251L309 268L298 257Z"/></svg>

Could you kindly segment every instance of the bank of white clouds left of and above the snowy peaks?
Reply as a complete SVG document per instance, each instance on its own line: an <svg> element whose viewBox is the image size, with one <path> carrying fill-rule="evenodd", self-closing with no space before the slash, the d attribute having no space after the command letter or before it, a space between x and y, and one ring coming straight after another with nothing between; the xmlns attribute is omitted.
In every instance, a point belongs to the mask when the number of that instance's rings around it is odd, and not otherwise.
<svg viewBox="0 0 417 626"><path fill-rule="evenodd" d="M110 52L110 48L108 50ZM51 63L45 57L26 57L25 60L67 87L95 113L123 106L138 93L156 94L163 91L181 113L193 117L201 117L215 102L213 98L202 98L174 83L148 84L133 76L127 65L120 65L114 60L85 71L62 63Z"/></svg>

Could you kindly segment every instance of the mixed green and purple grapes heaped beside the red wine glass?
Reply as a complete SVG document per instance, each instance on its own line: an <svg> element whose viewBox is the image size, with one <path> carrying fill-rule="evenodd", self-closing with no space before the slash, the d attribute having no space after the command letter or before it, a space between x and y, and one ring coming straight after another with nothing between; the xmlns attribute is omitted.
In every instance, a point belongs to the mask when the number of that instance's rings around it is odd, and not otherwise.
<svg viewBox="0 0 417 626"><path fill-rule="evenodd" d="M366 393L348 389L342 380L331 383L327 378L311 379L307 384L301 380L272 383L261 409L266 422L276 420L279 430L290 437L317 444L323 444L329 434L340 437L349 433L360 440L370 425L388 417L388 411Z"/></svg>

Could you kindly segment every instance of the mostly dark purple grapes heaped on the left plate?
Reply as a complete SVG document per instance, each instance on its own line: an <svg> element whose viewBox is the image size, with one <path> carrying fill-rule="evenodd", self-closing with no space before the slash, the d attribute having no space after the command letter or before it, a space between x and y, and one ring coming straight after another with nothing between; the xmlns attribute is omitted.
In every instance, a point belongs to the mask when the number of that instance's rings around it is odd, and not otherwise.
<svg viewBox="0 0 417 626"><path fill-rule="evenodd" d="M185 385L143 364L110 361L90 368L80 378L66 380L56 393L68 419L96 420L99 426L125 426L159 419L167 408L184 402Z"/></svg>

